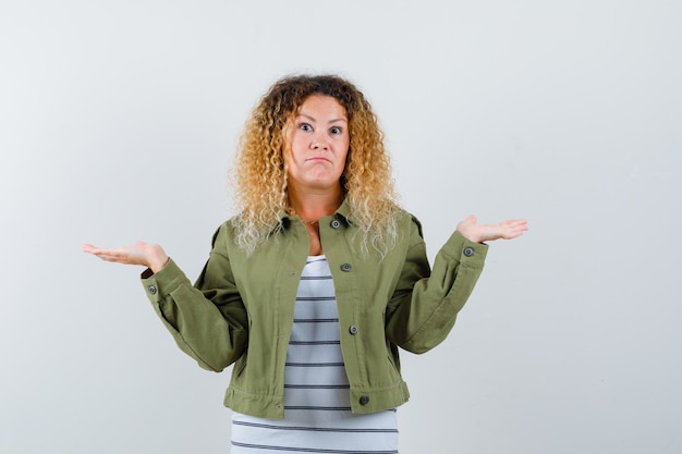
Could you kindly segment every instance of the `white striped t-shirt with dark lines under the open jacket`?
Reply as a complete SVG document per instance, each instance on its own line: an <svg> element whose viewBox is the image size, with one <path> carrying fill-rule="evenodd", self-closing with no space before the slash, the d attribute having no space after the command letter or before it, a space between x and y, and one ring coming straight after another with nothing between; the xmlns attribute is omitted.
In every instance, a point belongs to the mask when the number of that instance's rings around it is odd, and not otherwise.
<svg viewBox="0 0 682 454"><path fill-rule="evenodd" d="M232 454L395 454L395 409L353 415L325 256L308 257L284 369L284 419L233 413Z"/></svg>

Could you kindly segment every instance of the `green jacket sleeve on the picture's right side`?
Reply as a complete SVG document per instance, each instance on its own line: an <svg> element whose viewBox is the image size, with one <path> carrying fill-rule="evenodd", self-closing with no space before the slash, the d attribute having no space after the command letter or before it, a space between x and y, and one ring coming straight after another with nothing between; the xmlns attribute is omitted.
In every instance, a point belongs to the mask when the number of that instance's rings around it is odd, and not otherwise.
<svg viewBox="0 0 682 454"><path fill-rule="evenodd" d="M454 232L436 255L430 271L422 226L413 217L404 265L387 307L389 340L413 353L428 352L441 343L474 290L487 250L487 245Z"/></svg>

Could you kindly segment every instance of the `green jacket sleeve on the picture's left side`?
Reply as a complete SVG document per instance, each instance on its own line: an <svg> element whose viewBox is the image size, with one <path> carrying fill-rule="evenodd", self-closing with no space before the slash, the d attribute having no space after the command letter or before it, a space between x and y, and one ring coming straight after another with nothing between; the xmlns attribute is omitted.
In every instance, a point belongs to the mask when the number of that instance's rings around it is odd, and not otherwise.
<svg viewBox="0 0 682 454"><path fill-rule="evenodd" d="M216 232L208 261L194 285L170 260L142 275L147 296L178 346L200 367L221 371L244 352L248 317L232 277L224 228Z"/></svg>

